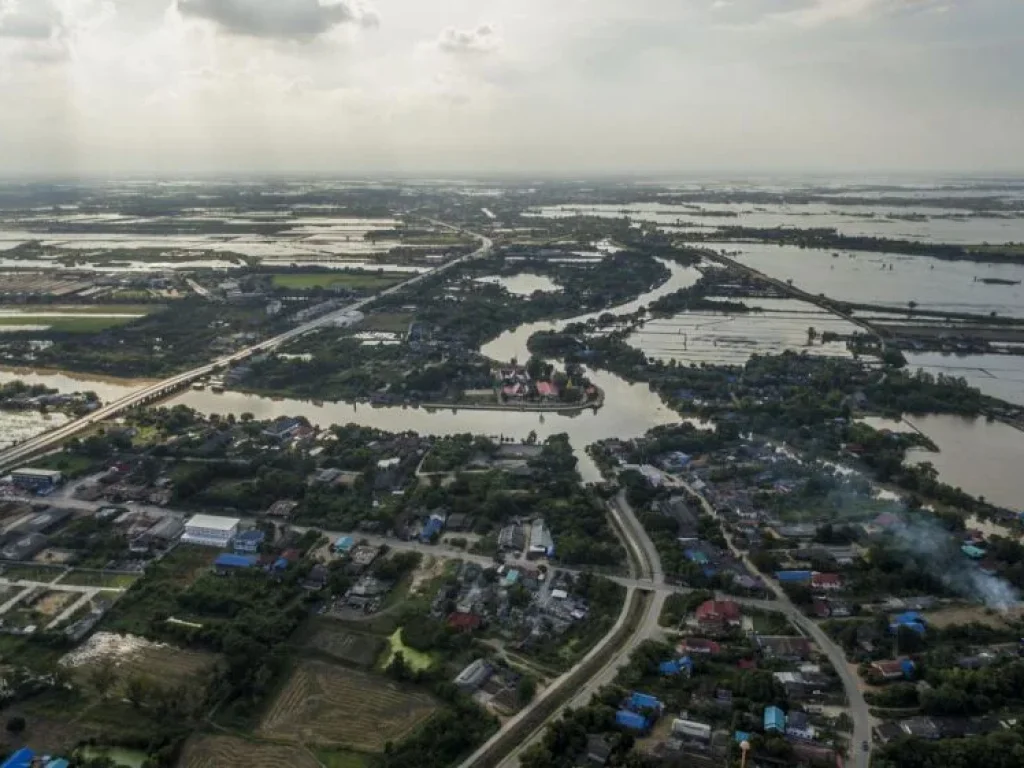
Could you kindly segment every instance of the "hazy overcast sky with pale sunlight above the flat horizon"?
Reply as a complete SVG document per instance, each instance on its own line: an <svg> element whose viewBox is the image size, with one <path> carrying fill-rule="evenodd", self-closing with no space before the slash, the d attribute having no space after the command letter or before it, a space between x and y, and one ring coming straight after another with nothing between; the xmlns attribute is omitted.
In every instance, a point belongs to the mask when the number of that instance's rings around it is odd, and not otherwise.
<svg viewBox="0 0 1024 768"><path fill-rule="evenodd" d="M0 173L1024 171L1022 0L0 0Z"/></svg>

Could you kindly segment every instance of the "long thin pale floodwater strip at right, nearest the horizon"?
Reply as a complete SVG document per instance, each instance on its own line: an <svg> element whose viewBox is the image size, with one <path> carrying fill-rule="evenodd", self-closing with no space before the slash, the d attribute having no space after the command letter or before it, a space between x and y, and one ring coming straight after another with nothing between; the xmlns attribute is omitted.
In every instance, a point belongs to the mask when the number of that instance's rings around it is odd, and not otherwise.
<svg viewBox="0 0 1024 768"><path fill-rule="evenodd" d="M853 237L891 238L930 243L1024 242L1024 216L973 216L970 211L928 206L888 208L825 203L806 205L753 205L749 203L696 203L678 206L657 203L629 205L548 206L526 214L541 218L602 216L651 221L695 230L720 226L811 229L828 227ZM915 217L907 220L907 216ZM924 217L924 218L921 218Z"/></svg>

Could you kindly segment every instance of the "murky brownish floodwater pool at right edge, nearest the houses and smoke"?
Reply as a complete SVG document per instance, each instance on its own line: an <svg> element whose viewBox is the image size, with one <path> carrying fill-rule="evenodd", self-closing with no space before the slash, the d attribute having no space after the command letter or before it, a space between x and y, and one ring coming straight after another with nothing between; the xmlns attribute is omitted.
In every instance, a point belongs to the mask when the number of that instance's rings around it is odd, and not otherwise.
<svg viewBox="0 0 1024 768"><path fill-rule="evenodd" d="M914 449L907 452L911 463L931 462L939 479L968 494L1015 511L1024 511L1024 434L997 421L982 417L949 415L905 416L902 422L864 419L876 429L907 431L915 428L927 435L938 453Z"/></svg>

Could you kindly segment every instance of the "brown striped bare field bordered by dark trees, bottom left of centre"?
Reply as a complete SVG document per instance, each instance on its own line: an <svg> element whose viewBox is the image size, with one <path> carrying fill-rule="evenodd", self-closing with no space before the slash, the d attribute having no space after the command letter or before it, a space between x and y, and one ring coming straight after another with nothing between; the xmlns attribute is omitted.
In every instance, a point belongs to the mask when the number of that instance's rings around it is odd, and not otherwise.
<svg viewBox="0 0 1024 768"><path fill-rule="evenodd" d="M435 710L426 693L366 672L302 662L260 723L267 738L379 752Z"/></svg>

